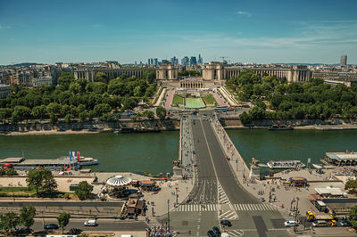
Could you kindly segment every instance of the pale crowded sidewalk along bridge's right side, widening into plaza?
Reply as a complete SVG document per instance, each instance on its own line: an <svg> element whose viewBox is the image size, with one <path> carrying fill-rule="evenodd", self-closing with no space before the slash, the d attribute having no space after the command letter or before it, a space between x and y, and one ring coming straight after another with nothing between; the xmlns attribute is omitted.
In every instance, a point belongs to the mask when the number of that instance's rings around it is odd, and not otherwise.
<svg viewBox="0 0 357 237"><path fill-rule="evenodd" d="M274 177L277 178L275 180L249 180L249 168L246 166L245 161L239 154L239 151L237 151L236 146L232 143L217 119L212 119L212 127L216 131L222 149L230 158L228 162L232 172L234 172L237 177L237 181L246 191L252 193L257 199L264 198L270 205L277 207L286 220L294 220L294 217L289 216L289 213L292 209L295 209L297 202L301 216L304 216L304 213L307 210L319 212L308 199L308 196L311 193L315 193L314 189L316 187L333 186L344 190L344 184L333 178L333 174L336 172L335 169L324 169L325 174L323 175L319 175L315 172L310 173L308 170L304 169L291 172L283 171L274 175ZM282 180L288 180L288 178L292 176L303 176L308 181L313 181L313 183L310 183L310 186L307 188L284 186ZM319 235L324 235L325 232L321 229L328 230L330 228L315 228L314 232ZM341 232L339 234L341 234Z"/></svg>

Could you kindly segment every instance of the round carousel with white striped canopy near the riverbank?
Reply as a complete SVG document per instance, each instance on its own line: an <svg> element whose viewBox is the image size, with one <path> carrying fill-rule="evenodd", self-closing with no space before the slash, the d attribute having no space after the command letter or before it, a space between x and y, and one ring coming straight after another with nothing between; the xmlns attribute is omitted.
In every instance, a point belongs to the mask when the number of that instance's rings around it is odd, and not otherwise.
<svg viewBox="0 0 357 237"><path fill-rule="evenodd" d="M111 198L122 199L130 194L128 185L131 183L131 178L126 176L114 176L106 181L108 194Z"/></svg>

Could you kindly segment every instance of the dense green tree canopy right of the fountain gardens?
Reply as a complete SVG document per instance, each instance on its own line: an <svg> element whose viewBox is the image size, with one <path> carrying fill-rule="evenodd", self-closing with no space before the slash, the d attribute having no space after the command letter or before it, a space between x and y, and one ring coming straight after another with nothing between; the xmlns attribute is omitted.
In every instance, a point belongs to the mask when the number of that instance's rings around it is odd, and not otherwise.
<svg viewBox="0 0 357 237"><path fill-rule="evenodd" d="M242 114L244 123L262 119L357 117L357 86L341 84L332 87L324 84L321 78L287 84L286 78L261 77L252 71L244 71L238 78L228 79L227 86L238 94L241 101L251 101L259 108Z"/></svg>

